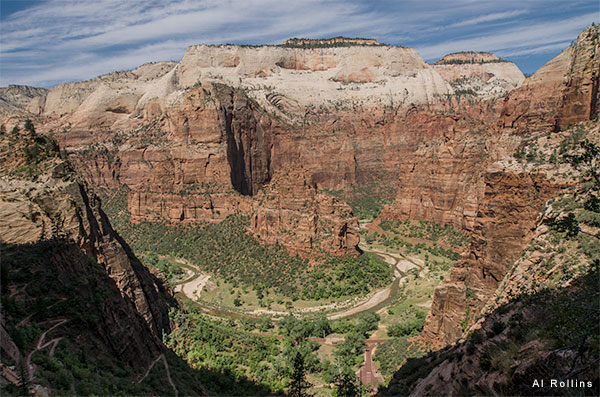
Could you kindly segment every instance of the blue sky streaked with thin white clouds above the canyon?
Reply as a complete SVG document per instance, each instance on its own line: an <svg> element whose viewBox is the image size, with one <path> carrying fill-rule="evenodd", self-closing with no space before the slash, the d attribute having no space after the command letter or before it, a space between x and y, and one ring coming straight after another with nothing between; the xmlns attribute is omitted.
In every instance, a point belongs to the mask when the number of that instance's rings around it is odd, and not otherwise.
<svg viewBox="0 0 600 397"><path fill-rule="evenodd" d="M372 37L426 61L490 51L535 72L600 3L576 0L0 0L0 86L52 87L199 43L278 44L289 37Z"/></svg>

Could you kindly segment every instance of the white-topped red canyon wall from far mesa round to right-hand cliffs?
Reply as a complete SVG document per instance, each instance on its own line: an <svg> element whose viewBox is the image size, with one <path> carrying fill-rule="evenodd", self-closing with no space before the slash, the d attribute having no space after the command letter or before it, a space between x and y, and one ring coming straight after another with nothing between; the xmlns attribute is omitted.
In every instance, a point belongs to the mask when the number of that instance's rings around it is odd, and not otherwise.
<svg viewBox="0 0 600 397"><path fill-rule="evenodd" d="M412 49L379 45L198 45L179 63L57 86L35 121L88 181L131 189L134 221L218 222L241 211L262 240L296 252L356 246L348 207L318 189L397 189L382 216L474 234L426 322L425 338L443 344L483 310L544 201L564 187L502 160L525 133L597 113L598 46L591 26L523 82L492 54L428 65ZM14 225L31 241L43 234Z"/></svg>

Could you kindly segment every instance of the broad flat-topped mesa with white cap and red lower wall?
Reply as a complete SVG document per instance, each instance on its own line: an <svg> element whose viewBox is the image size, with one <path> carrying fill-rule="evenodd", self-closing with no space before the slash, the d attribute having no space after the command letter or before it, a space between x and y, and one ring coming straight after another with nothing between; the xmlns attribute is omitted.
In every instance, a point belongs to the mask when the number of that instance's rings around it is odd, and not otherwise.
<svg viewBox="0 0 600 397"><path fill-rule="evenodd" d="M126 184L134 221L249 211L244 196L293 163L321 189L393 188L457 124L440 115L454 90L414 50L362 44L193 46L178 64L55 87L36 125L90 183Z"/></svg>

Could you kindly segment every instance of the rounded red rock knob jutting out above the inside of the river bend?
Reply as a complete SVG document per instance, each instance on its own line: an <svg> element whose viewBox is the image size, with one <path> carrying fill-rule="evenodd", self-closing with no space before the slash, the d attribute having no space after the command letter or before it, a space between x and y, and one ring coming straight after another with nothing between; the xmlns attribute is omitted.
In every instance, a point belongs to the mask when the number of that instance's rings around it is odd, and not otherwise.
<svg viewBox="0 0 600 397"><path fill-rule="evenodd" d="M294 253L357 254L358 220L343 201L317 192L301 167L282 172L254 202L250 230L262 241Z"/></svg>

